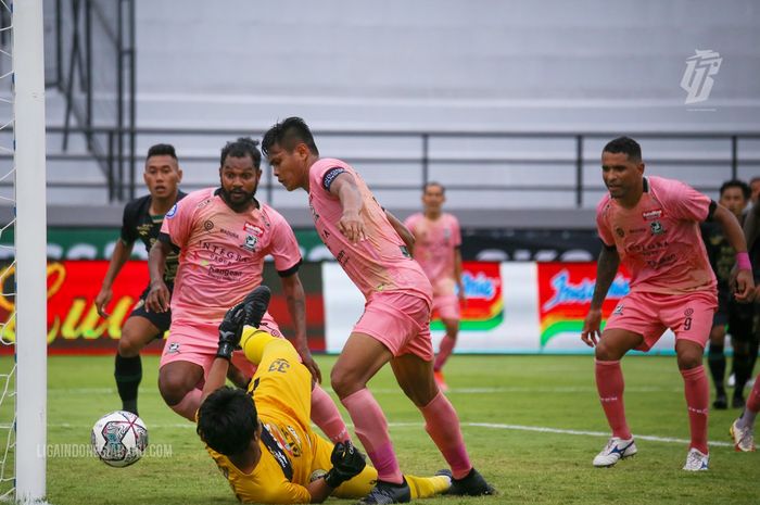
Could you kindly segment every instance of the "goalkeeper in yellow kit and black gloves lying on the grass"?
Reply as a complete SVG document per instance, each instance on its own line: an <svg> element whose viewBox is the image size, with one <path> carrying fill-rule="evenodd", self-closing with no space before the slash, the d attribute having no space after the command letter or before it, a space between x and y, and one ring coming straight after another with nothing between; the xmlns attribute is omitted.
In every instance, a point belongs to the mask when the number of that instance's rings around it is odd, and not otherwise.
<svg viewBox="0 0 760 505"><path fill-rule="evenodd" d="M351 442L332 445L309 424L312 375L284 339L256 327L269 303L259 286L229 310L198 409L198 434L243 503L320 503L360 498L377 470ZM229 357L242 346L258 365L248 392L225 386ZM445 470L447 471L447 470ZM451 474L405 476L411 498L445 493Z"/></svg>

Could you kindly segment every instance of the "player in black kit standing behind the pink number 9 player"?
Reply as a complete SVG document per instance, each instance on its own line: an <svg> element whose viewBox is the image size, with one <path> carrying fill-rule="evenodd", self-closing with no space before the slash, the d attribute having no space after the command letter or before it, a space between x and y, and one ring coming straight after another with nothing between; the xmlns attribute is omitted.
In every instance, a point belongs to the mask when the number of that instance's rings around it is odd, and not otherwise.
<svg viewBox="0 0 760 505"><path fill-rule="evenodd" d="M734 213L739 223L744 222L744 210L749 203L750 189L743 180L729 180L720 189L720 203ZM732 406L744 407L744 387L750 378L750 349L755 337L753 319L755 305L737 302L731 289L731 273L736 263L736 252L729 243L720 226L712 223L701 225L702 239L710 258L710 265L718 279L718 310L712 319L710 330L710 348L708 365L712 382L715 384L715 401L713 408L727 408L729 399L725 393L725 344L726 325L734 349L734 375L736 387ZM752 266L756 263L752 262ZM756 349L757 353L757 349Z"/></svg>

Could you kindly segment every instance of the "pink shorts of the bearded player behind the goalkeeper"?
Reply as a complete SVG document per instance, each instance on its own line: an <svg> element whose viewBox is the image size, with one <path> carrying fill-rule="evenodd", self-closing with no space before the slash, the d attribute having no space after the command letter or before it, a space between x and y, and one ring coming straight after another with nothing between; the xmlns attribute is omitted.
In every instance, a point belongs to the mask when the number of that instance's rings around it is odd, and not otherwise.
<svg viewBox="0 0 760 505"><path fill-rule="evenodd" d="M282 338L280 328L274 319L265 316L261 328L275 337ZM160 368L168 363L190 362L203 368L203 377L208 375L216 349L218 348L218 325L185 325L173 323L169 336L161 354ZM253 377L256 365L249 362L242 351L232 354L232 364L237 366L245 377Z"/></svg>

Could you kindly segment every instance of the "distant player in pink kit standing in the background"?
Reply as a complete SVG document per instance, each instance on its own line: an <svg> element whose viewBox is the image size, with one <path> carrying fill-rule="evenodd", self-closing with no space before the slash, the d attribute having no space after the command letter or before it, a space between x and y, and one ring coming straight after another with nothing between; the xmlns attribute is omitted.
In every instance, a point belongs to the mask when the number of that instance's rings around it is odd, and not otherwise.
<svg viewBox="0 0 760 505"><path fill-rule="evenodd" d="M456 344L459 332L459 303L465 302L461 286L461 232L459 222L442 211L445 189L439 182L428 182L422 191L423 212L413 214L404 225L415 236L413 255L433 286L433 311L446 328L441 340L433 374L441 391L448 387L443 378L443 365Z"/></svg>

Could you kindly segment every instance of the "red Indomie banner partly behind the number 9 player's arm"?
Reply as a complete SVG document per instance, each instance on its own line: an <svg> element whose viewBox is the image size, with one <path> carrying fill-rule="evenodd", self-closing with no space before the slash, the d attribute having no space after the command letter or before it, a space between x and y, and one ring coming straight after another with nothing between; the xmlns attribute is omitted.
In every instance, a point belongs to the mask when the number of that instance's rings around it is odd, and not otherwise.
<svg viewBox="0 0 760 505"><path fill-rule="evenodd" d="M558 333L580 334L596 286L596 263L537 263L541 346ZM631 276L621 265L601 306L607 318L631 290Z"/></svg>

